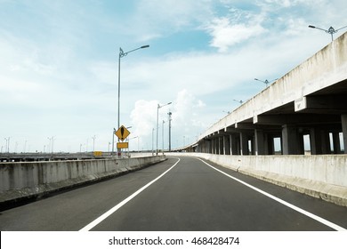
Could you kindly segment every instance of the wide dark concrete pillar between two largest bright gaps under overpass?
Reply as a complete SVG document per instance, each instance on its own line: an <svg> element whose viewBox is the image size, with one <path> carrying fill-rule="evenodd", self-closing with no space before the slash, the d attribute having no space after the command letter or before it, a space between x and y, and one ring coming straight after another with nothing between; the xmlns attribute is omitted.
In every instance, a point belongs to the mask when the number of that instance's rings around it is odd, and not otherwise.
<svg viewBox="0 0 347 249"><path fill-rule="evenodd" d="M283 155L300 155L303 145L295 126L285 124L282 126Z"/></svg>

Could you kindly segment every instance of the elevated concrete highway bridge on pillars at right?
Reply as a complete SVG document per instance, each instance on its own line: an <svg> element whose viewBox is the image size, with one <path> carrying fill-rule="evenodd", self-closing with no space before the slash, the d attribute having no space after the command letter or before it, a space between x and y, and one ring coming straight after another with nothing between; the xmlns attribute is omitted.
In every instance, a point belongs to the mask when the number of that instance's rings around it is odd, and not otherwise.
<svg viewBox="0 0 347 249"><path fill-rule="evenodd" d="M347 33L178 150L274 155L278 138L281 154L303 155L304 135L311 155L347 153Z"/></svg>

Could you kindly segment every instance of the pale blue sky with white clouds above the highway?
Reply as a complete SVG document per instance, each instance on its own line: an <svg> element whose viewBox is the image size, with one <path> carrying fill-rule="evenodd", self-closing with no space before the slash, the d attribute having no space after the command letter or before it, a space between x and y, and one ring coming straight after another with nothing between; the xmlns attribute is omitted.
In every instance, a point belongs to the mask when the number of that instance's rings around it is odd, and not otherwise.
<svg viewBox="0 0 347 249"><path fill-rule="evenodd" d="M120 59L129 149L162 149L163 131L167 149L169 112L172 148L192 143L262 92L254 78L331 42L309 25L342 28L346 12L345 0L0 0L1 151L111 150L120 48L147 44Z"/></svg>

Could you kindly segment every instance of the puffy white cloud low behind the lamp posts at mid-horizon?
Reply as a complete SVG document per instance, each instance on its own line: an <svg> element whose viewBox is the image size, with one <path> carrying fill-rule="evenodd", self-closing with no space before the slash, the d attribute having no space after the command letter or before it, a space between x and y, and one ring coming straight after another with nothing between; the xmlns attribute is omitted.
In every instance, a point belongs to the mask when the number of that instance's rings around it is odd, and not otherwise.
<svg viewBox="0 0 347 249"><path fill-rule="evenodd" d="M156 141L157 139L157 104L157 100L138 100L131 112L133 136L140 136L140 147L146 147L147 145L147 149L149 149L149 141L151 140L153 129L155 129L154 140ZM201 110L205 106L202 100L198 100L194 94L183 89L177 93L172 105L159 108L159 148L162 148L163 120L165 121L165 148L167 148L168 112L172 112L172 144L177 143L177 141L174 141L174 138L180 138L181 141L183 136L187 138L188 142L193 141L206 128L202 121L203 118L200 116Z"/></svg>

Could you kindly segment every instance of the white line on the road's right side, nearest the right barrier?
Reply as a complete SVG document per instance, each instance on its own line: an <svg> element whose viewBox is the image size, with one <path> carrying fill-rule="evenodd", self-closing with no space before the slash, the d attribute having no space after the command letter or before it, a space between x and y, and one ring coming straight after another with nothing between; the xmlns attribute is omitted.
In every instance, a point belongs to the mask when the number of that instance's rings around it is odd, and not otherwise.
<svg viewBox="0 0 347 249"><path fill-rule="evenodd" d="M206 165L208 165L208 166L210 166L211 168L213 168L214 170L216 170L217 172L220 172L220 173L222 173L222 174L225 174L226 176L230 177L231 179L233 179L233 180L235 180L235 181L238 181L239 183L245 185L246 187L251 188L251 189L254 189L255 191L261 193L262 195L264 195L264 196L266 196L266 197L270 197L271 199L277 201L278 203L280 203L280 204L282 204L282 205L286 205L287 207L289 207L289 208L291 208L291 209L294 209L296 212L303 213L304 215L310 217L311 219L316 220L316 221L319 221L320 223L323 223L324 225L326 225L326 226L328 226L328 227L330 227L330 228L332 228L332 229L335 229L335 230L337 230L337 231L346 231L346 230L347 230L347 229L344 229L343 227L340 227L340 226L336 225L336 224L333 223L333 222L327 221L327 220L325 220L325 219L323 219L323 218L321 218L321 217L319 217L319 216L317 216L317 215L315 215L315 214L313 214L313 213L307 212L307 211L303 210L303 209L300 208L300 207L297 207L297 206L295 206L295 205L292 205L292 204L290 204L290 203L287 203L286 201L284 201L284 200L282 200L282 199L280 199L280 198L278 198L278 197L272 196L272 195L270 195L269 193L263 191L262 189L255 188L254 186L252 186L252 185L246 183L245 181L238 180L238 178L235 178L235 177L231 176L231 175L228 174L228 173L222 172L221 170L215 168L214 166L207 164L204 160L202 160L202 159L200 159L200 158L198 158L198 159L199 159L200 161L202 161L203 163L205 163Z"/></svg>

